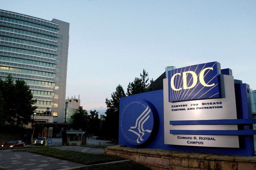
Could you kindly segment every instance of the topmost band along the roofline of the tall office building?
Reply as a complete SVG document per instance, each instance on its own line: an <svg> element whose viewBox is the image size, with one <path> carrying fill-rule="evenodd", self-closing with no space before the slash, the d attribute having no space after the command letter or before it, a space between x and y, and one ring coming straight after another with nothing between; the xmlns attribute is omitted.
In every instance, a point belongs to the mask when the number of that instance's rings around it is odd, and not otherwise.
<svg viewBox="0 0 256 170"><path fill-rule="evenodd" d="M12 16L12 17L15 17L15 18L21 18L23 20L26 19L26 20L30 20L30 21L34 21L34 22L38 22L38 23L42 23L42 24L46 24L46 25L50 25L50 26L53 26L53 27L57 27L58 26L57 23L55 24L55 23L46 21L46 20L41 19L41 18L36 19L35 17L30 17L30 16L26 17L27 15L23 15L23 14L22 15L20 15L20 14L18 15L16 13L4 12L2 10L0 10L0 14Z"/></svg>

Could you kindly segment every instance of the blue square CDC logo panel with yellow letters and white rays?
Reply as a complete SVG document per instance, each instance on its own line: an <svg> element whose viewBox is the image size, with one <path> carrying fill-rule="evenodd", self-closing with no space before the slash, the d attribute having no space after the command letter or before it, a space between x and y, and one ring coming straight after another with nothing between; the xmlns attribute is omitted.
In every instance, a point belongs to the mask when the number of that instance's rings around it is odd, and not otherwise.
<svg viewBox="0 0 256 170"><path fill-rule="evenodd" d="M169 102L220 98L220 63L204 63L168 71Z"/></svg>

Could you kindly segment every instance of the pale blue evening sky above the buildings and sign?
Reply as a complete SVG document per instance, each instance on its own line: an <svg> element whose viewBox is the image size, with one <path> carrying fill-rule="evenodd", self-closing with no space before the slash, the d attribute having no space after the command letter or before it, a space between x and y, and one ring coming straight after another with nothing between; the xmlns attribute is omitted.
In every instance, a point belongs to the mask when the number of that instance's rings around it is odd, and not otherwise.
<svg viewBox="0 0 256 170"><path fill-rule="evenodd" d="M106 98L165 67L217 61L256 90L255 0L1 0L0 9L70 23L66 99L104 114Z"/></svg>

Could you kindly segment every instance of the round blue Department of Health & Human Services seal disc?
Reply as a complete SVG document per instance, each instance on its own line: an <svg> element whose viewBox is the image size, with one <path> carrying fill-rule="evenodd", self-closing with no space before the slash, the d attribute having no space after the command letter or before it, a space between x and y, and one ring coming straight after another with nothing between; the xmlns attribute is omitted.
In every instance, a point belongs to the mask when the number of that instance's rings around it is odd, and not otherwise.
<svg viewBox="0 0 256 170"><path fill-rule="evenodd" d="M146 142L154 125L153 113L148 103L144 100L132 100L120 110L119 129L124 140L132 145Z"/></svg>

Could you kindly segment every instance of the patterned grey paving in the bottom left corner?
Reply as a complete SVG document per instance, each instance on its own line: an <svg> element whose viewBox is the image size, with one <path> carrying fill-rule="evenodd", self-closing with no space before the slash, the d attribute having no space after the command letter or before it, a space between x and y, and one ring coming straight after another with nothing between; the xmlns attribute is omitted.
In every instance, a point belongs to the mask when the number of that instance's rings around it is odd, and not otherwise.
<svg viewBox="0 0 256 170"><path fill-rule="evenodd" d="M73 169L84 166L66 160L55 159L22 150L0 150L0 167L11 170L40 170L40 169Z"/></svg>

